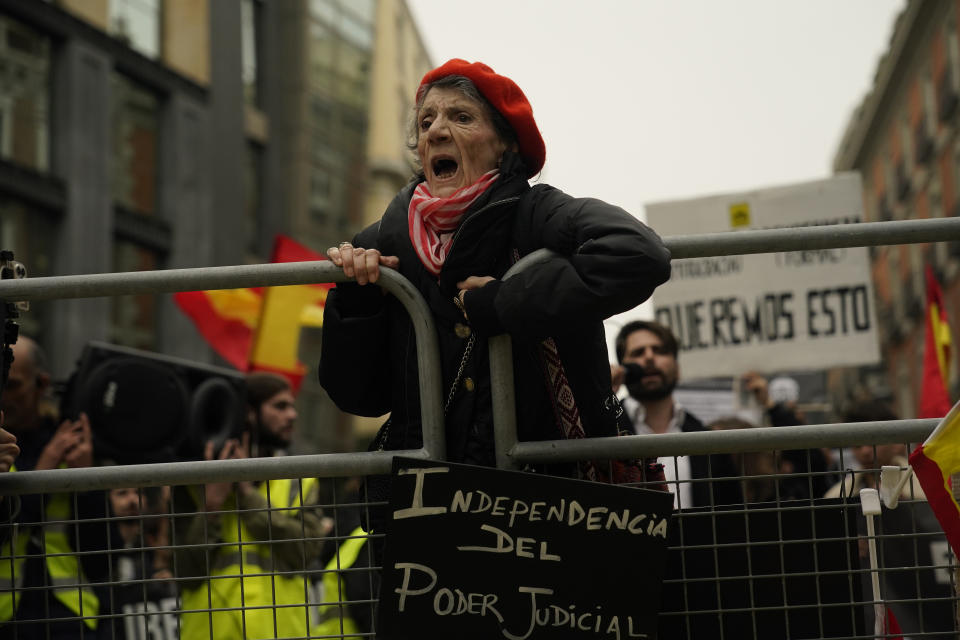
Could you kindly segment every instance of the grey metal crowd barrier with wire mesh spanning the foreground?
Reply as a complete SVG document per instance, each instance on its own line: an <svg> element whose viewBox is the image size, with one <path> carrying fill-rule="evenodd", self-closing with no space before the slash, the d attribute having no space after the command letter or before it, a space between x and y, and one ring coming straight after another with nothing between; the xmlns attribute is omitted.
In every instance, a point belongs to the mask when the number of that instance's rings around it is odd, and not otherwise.
<svg viewBox="0 0 960 640"><path fill-rule="evenodd" d="M960 219L665 239L677 258L946 240L960 240ZM329 263L216 267L3 281L0 300L344 280L342 272ZM0 514L19 503L21 519L19 524L0 524L0 540L12 539L15 549L0 553L0 636L372 637L370 620L376 613L380 569L377 549L382 539L376 530L367 534L369 528L356 525L383 507L385 496L365 492L357 478L386 473L397 454L442 459L445 451L439 355L431 315L416 290L395 272L384 270L380 284L401 300L413 318L424 411L422 449L3 474L0 505L6 506ZM875 450L893 446L900 453L908 451L930 433L935 420L518 442L512 385L507 384L512 374L509 342L491 342L493 378L502 386L495 390L498 466L653 456L672 458L677 464L683 456L706 455L711 464L733 460L738 467L732 475L690 483L692 488L706 483L711 495L714 486L724 483L739 487L741 499L724 503L711 498L709 505L699 508L680 505L669 546L676 562L668 563L664 581L660 637L873 638L877 603L869 584L876 575L884 588L883 602L905 635L956 637L960 600L955 561L942 532L935 523L931 525L922 497L911 489L897 509L884 512L872 537L881 548L880 564L873 570L863 550L868 536L857 497L848 492L825 501L814 495L813 487L843 482L843 478L876 480L879 471L854 472L842 466L814 469L809 464L821 449L839 454L841 447L869 444ZM795 466L778 466L790 452ZM757 473L750 468L748 456L753 454L767 456L764 459L773 460L774 466ZM804 456L807 468L803 468ZM240 486L284 478L298 480L283 506L227 504L216 510L217 518L209 517L205 484ZM306 479L318 482L309 485ZM266 482L261 486L269 491L285 485ZM136 508L122 513L103 491L128 488L137 489ZM761 494L762 502L747 497ZM72 507L66 514L48 509L60 496L66 496ZM27 515L34 519L24 520ZM236 535L216 531L214 521L228 516L232 521L223 521L235 523ZM240 523L247 520L249 526L265 526L266 534L246 533ZM327 531L329 526L333 528ZM58 534L71 541L70 549L51 551L48 541L57 540ZM16 550L24 539L32 541L32 551ZM231 554L215 553L224 548ZM236 562L211 566L214 556L224 555ZM19 560L32 573L17 585L19 578L11 568ZM51 563L58 562L59 573L51 568ZM57 573L53 584L48 573ZM602 571L597 578L602 579ZM638 568L638 579L642 579L642 568ZM296 597L291 597L291 589ZM47 598L51 590L59 600ZM218 590L233 595L232 600L228 598L231 605L218 604ZM49 602L55 600L63 606L49 610ZM46 603L47 615L10 621L7 612L4 617L5 602L36 606L39 601ZM64 602L74 603L74 608ZM238 616L229 615L236 611L241 613L241 626L234 629L224 621L237 620Z"/></svg>

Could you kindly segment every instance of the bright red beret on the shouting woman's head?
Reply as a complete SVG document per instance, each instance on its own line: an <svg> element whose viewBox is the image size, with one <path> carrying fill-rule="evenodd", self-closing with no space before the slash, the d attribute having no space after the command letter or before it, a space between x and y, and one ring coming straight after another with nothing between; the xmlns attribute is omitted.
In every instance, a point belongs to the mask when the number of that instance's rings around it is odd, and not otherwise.
<svg viewBox="0 0 960 640"><path fill-rule="evenodd" d="M516 132L520 155L527 165L527 177L539 173L547 157L547 148L537 128L537 121L533 119L533 107L517 83L498 75L482 62L454 58L423 76L417 88L417 99L424 86L447 76L464 76L476 85L480 94L506 118Z"/></svg>

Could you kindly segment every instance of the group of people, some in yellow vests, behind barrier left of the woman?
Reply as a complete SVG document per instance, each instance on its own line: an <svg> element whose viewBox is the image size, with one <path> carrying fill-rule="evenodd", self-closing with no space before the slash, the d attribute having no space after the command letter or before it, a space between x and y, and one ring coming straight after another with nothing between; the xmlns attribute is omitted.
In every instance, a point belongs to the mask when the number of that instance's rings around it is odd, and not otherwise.
<svg viewBox="0 0 960 640"><path fill-rule="evenodd" d="M13 355L2 397L0 471L115 464L96 455L97 425L85 413L57 419L43 349L21 337ZM218 449L208 442L206 459L289 449L297 419L290 383L252 373L245 390L242 435ZM346 496L339 502L358 502L359 485L352 485L352 493L339 487ZM335 571L370 565L357 549L351 562L343 559L344 547L357 540L362 546L360 517L356 507L321 505L330 493L320 480L304 478L0 498L0 635L306 637L340 633L341 623L369 631L370 578L338 585ZM347 593L366 604L324 605L325 597L346 600Z"/></svg>

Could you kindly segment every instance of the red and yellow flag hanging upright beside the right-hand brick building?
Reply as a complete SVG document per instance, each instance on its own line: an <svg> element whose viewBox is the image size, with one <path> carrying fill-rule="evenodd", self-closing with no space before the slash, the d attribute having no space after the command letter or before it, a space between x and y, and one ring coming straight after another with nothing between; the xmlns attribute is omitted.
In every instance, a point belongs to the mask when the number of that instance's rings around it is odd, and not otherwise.
<svg viewBox="0 0 960 640"><path fill-rule="evenodd" d="M943 293L933 269L927 265L926 339L923 350L923 386L920 418L942 418L950 411L950 326Z"/></svg>

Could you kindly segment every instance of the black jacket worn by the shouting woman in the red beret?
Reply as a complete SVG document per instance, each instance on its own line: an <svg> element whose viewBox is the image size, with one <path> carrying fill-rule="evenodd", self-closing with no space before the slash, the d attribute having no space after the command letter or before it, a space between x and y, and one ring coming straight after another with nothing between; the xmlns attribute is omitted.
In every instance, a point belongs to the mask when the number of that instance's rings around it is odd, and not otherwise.
<svg viewBox="0 0 960 640"><path fill-rule="evenodd" d="M426 299L439 333L444 398L468 340L467 322L453 302L456 283L472 275L501 277L515 250L560 254L467 292L469 330L477 341L447 413L447 459L494 464L487 338L503 332L513 337L521 440L562 437L539 347L546 337L557 344L586 434L618 433L623 411L610 391L602 320L637 306L669 278L670 254L660 238L618 207L547 185L531 188L519 158L508 153L500 178L461 221L438 281L410 243L407 207L415 186L401 191L354 244L398 256L400 273ZM323 328L320 382L337 406L363 416L392 412L384 448L420 447L417 346L400 303L376 286L340 284L327 298Z"/></svg>

